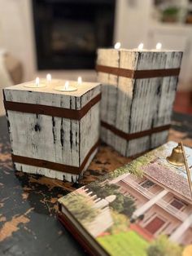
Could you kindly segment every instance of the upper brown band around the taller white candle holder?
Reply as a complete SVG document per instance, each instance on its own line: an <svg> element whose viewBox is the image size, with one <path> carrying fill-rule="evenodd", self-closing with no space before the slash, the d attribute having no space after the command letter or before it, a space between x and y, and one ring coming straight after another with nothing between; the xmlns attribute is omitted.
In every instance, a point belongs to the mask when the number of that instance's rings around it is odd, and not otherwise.
<svg viewBox="0 0 192 256"><path fill-rule="evenodd" d="M166 69L149 69L149 70L132 70L126 68L114 68L103 65L96 65L96 71L102 73L110 73L120 77L128 78L151 78L151 77L177 77L180 68Z"/></svg>

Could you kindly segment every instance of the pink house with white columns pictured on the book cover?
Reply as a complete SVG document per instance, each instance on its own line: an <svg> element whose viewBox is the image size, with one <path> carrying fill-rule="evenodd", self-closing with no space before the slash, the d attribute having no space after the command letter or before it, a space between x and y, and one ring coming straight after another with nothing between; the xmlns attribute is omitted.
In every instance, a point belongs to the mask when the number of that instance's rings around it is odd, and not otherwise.
<svg viewBox="0 0 192 256"><path fill-rule="evenodd" d="M151 240L159 234L165 234L171 241L189 245L192 243L190 191L186 179L176 173L171 179L171 172L166 168L151 172L151 166L147 166L142 178L123 174L110 183L118 185L124 195L133 197L137 206L133 217L140 216L141 219L133 227L142 236ZM157 179L156 174L160 178Z"/></svg>

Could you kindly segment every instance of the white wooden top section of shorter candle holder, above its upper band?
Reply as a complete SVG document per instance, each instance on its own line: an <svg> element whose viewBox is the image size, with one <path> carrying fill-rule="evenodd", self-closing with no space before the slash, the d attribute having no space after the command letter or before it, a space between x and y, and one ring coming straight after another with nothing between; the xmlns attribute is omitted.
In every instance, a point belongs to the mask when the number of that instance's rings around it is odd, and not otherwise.
<svg viewBox="0 0 192 256"><path fill-rule="evenodd" d="M76 82L72 83L76 84ZM100 87L95 82L83 82L78 86L78 90L70 92L54 90L58 84L64 86L64 80L53 80L50 85L39 88L24 87L24 84L7 87L5 90L7 101L81 109L100 92Z"/></svg>

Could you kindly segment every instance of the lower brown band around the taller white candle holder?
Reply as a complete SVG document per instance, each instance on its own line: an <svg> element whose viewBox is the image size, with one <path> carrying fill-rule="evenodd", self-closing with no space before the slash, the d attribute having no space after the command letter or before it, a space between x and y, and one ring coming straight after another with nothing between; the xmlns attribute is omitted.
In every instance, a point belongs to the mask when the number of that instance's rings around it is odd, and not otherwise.
<svg viewBox="0 0 192 256"><path fill-rule="evenodd" d="M124 131L117 129L115 126L111 126L107 124L107 122L105 121L102 121L101 125L107 130L111 130L111 132L113 132L115 135L118 135L121 138L126 140L141 138L147 135L158 133L160 131L168 130L170 128L170 125L158 126L158 127L151 128L150 130L142 130L133 134L127 134Z"/></svg>

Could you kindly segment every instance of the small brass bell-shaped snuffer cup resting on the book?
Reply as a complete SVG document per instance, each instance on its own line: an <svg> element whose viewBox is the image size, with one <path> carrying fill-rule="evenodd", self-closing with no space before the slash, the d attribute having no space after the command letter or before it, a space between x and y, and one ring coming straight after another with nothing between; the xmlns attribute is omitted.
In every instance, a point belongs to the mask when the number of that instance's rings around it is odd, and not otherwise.
<svg viewBox="0 0 192 256"><path fill-rule="evenodd" d="M167 161L174 166L185 165L181 143L178 143L177 147L172 149L172 154L167 157Z"/></svg>

